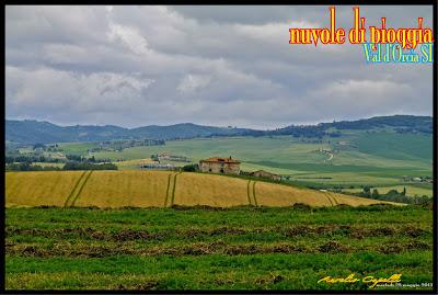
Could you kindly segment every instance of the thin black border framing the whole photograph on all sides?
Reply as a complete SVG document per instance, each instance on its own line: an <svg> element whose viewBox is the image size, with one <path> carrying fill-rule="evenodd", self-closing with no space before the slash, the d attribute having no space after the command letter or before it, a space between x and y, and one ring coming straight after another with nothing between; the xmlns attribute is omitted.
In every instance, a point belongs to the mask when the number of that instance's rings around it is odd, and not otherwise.
<svg viewBox="0 0 438 295"><path fill-rule="evenodd" d="M221 1L216 1L216 2L210 2L208 3L207 0L204 2L198 2L198 1L181 1L181 0L173 0L173 1L143 1L142 3L140 1L132 1L132 0L127 0L124 2L117 3L114 0L107 0L107 1L96 1L96 0L90 0L90 1L83 1L83 0L67 0L64 1L62 4L254 4L253 3L245 3L244 1L230 1L230 0L221 0ZM16 1L5 1L3 5L1 5L2 9L2 15L3 15L3 21L1 22L1 25L3 26L2 30L0 31L3 41L3 65L4 65L4 72L3 72L3 79L2 79L2 89L3 93L5 93L5 5L23 5L23 4L59 4L58 3L50 3L51 1L23 1L23 0L16 0ZM269 3L269 5L275 5L275 4L295 4L295 5L431 5L434 11L433 11L433 29L434 29L434 64L433 64L433 122L434 122L434 133L433 133L433 147L434 147L434 159L433 159L433 177L434 177L434 288L433 291L417 291L417 290L388 290L388 291L150 291L150 292L138 292L138 291L50 291L50 290L44 290L44 291L13 291L13 290L5 290L5 254L4 254L4 249L5 249L5 232L4 232L4 225L5 225L5 201L4 201L4 194L2 197L0 197L0 205L2 206L2 209L0 211L1 214L1 222L3 226L1 226L1 241L2 241L2 249L3 249L3 254L0 254L0 264L1 264L1 281L0 281L0 292L2 294L145 294L145 293L151 293L151 294L227 294L227 293L234 293L234 294L437 294L438 293L438 276L437 276L437 269L438 269L438 257L437 257L437 238L438 238L438 219L437 219L437 213L438 213L438 183L437 183L437 127L438 127L438 121L437 121L437 23L438 23L438 3L435 0L399 0L399 1L389 1L389 0L367 0L367 1L351 1L351 0L301 0L300 2L293 2L293 1L273 1ZM267 5L267 4L266 4ZM3 116L5 117L5 100L3 98ZM5 150L5 143L4 143L4 125L2 125L3 133L2 133L2 141L1 145L3 147L3 154L2 154L2 160L3 160L3 167L4 167L4 150ZM4 170L2 171L4 174ZM4 175L2 178L2 184L3 188L5 186L5 180Z"/></svg>

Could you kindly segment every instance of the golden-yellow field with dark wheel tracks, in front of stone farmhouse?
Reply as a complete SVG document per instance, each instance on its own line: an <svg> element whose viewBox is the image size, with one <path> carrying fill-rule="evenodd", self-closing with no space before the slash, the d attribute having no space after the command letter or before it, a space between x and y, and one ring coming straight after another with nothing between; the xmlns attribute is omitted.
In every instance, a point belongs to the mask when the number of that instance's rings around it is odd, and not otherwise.
<svg viewBox="0 0 438 295"><path fill-rule="evenodd" d="M380 201L242 178L170 171L7 172L5 205L170 207L370 205Z"/></svg>

